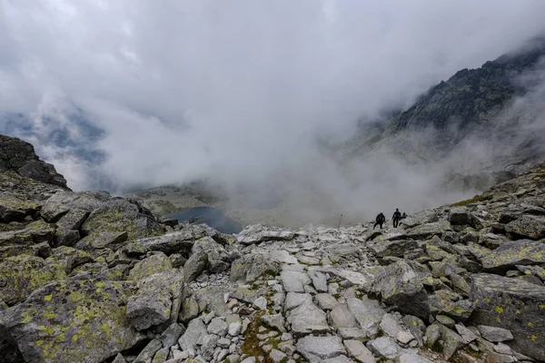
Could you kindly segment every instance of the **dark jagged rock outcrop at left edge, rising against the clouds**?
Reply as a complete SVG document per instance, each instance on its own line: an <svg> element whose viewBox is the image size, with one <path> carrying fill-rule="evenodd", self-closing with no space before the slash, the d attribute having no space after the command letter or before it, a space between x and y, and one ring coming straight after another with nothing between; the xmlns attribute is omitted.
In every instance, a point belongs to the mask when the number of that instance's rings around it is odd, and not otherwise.
<svg viewBox="0 0 545 363"><path fill-rule="evenodd" d="M5 135L0 135L0 170L68 188L64 176L56 172L52 164L41 161L30 143Z"/></svg>

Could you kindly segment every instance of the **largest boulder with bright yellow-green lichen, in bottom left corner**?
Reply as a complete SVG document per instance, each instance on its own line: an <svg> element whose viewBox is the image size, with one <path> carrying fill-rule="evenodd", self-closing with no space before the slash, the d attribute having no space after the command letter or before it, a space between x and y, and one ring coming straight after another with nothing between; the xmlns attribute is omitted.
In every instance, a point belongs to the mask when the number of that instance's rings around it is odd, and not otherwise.
<svg viewBox="0 0 545 363"><path fill-rule="evenodd" d="M98 363L143 338L125 314L130 294L119 282L79 275L36 289L2 324L25 362Z"/></svg>

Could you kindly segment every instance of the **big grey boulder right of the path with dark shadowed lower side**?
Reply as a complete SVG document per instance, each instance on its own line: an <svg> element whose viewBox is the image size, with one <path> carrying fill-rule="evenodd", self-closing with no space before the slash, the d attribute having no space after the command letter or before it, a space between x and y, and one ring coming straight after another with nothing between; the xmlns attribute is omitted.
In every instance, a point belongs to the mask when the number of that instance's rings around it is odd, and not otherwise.
<svg viewBox="0 0 545 363"><path fill-rule="evenodd" d="M416 262L401 260L378 270L371 290L386 305L428 320L430 306L424 282L430 279L431 274L425 267Z"/></svg>

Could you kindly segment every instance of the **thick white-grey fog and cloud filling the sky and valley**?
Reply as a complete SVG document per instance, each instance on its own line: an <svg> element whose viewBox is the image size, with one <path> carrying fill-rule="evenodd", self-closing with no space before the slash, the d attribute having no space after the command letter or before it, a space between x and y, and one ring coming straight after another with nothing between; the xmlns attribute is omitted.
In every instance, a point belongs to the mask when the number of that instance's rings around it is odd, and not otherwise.
<svg viewBox="0 0 545 363"><path fill-rule="evenodd" d="M541 0L0 0L0 132L74 190L207 180L237 205L289 199L301 222L418 211L473 191L387 147L340 162L317 140L350 140L359 120L543 34L543 14ZM493 140L466 143L493 158Z"/></svg>

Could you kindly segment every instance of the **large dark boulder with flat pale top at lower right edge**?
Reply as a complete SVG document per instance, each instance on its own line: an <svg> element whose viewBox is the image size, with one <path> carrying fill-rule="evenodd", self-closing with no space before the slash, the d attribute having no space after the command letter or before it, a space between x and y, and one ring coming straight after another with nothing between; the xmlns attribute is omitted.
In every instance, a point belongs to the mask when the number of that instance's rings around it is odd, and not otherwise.
<svg viewBox="0 0 545 363"><path fill-rule="evenodd" d="M471 277L470 298L475 305L472 324L508 329L510 348L545 360L545 287L481 273Z"/></svg>

